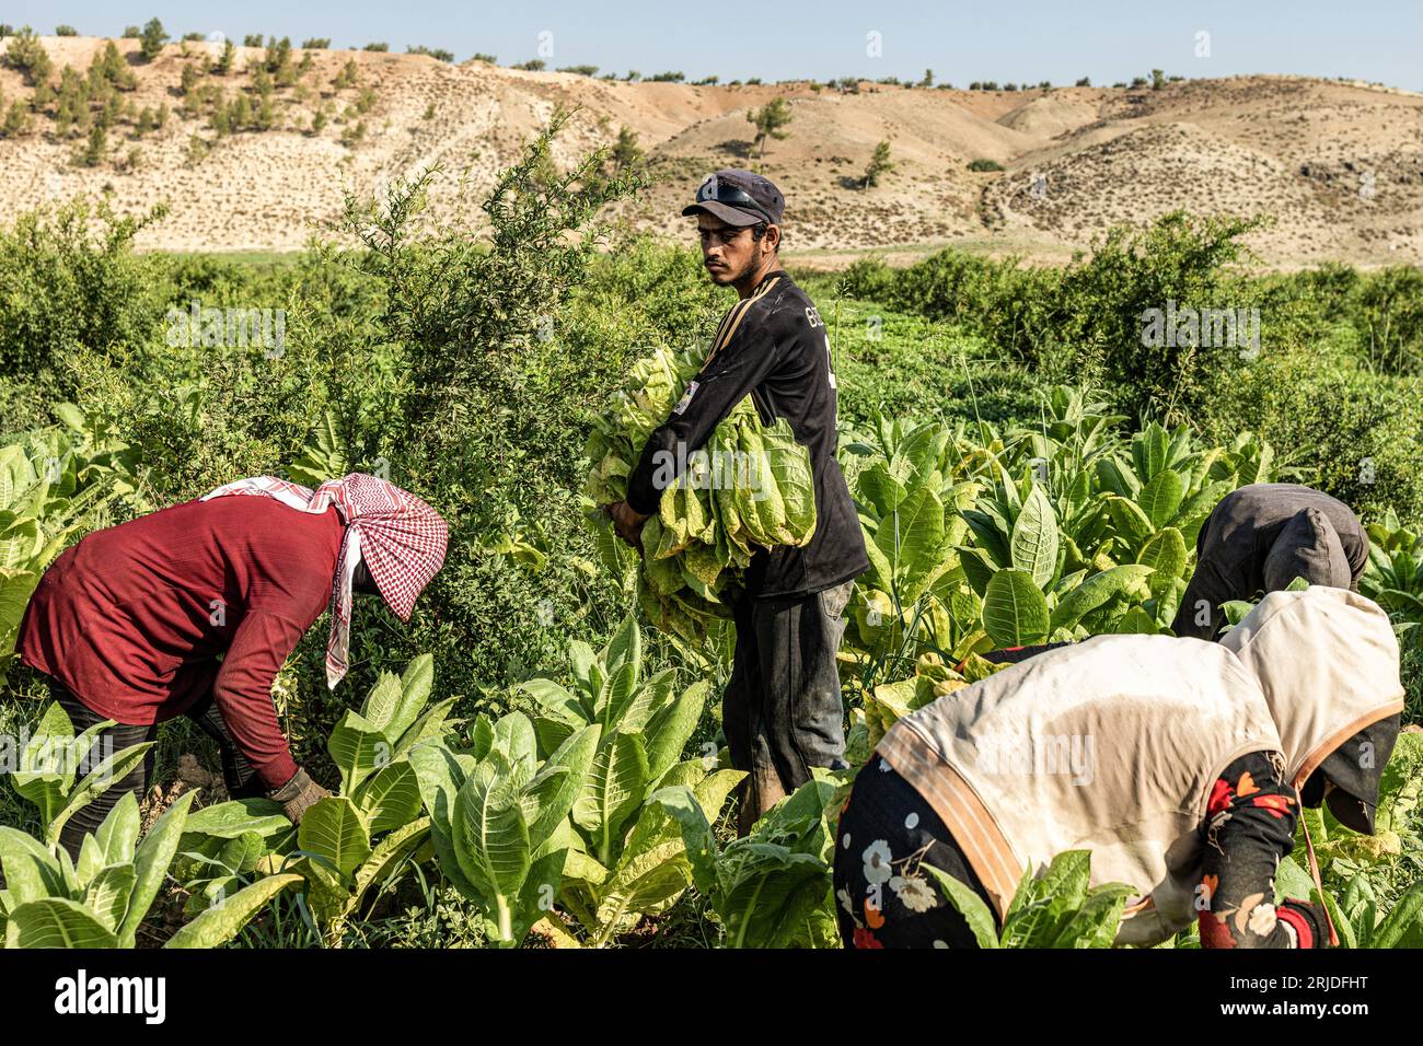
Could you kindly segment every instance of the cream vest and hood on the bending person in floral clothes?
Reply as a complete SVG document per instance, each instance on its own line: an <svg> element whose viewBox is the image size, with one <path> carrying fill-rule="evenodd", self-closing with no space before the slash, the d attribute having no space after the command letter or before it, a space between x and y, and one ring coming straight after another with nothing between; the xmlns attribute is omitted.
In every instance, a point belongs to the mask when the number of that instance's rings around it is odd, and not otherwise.
<svg viewBox="0 0 1423 1046"><path fill-rule="evenodd" d="M1232 760L1284 751L1298 776L1402 707L1393 630L1363 596L1276 592L1231 636L1043 653L899 720L878 753L943 820L999 918L1025 868L1091 850L1094 885L1138 892L1117 944L1158 944L1195 919L1200 827Z"/></svg>

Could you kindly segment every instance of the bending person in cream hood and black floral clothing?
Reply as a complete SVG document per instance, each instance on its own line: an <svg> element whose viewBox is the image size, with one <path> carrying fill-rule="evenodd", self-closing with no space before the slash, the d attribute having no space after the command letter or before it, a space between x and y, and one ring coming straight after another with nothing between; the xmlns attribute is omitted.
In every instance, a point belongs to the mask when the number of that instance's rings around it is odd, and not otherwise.
<svg viewBox="0 0 1423 1046"><path fill-rule="evenodd" d="M1301 804L1373 831L1402 712L1389 618L1342 588L1272 592L1220 643L1113 635L1029 657L879 741L837 830L841 936L972 948L925 864L1002 926L1025 868L1090 850L1093 885L1136 891L1118 945L1198 919L1205 948L1326 946L1326 912L1276 905L1275 871Z"/></svg>

